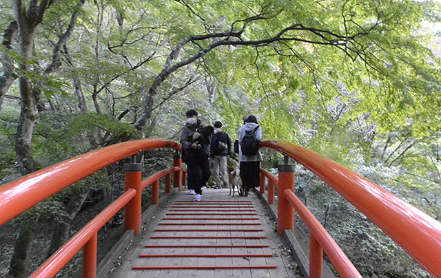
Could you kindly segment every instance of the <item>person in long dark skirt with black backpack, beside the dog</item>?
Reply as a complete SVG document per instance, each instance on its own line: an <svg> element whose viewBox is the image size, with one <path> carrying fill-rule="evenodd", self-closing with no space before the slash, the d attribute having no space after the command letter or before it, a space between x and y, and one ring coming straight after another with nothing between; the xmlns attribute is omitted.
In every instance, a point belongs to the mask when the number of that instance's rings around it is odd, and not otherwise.
<svg viewBox="0 0 441 278"><path fill-rule="evenodd" d="M262 140L262 127L258 125L256 116L250 115L238 131L239 169L245 196L249 195L249 189L260 186L259 173L260 161L262 161L258 151L260 140Z"/></svg>

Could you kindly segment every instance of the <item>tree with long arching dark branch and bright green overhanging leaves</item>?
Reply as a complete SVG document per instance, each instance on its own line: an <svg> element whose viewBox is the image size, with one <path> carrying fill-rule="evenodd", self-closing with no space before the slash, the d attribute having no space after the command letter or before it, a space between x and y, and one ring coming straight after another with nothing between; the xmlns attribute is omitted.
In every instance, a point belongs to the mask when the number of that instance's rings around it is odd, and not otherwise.
<svg viewBox="0 0 441 278"><path fill-rule="evenodd" d="M338 83L342 83L347 91L357 89L362 100L358 107L372 105L370 98L381 93L386 102L376 105L386 105L376 108L381 111L389 109L387 105L400 105L389 111L389 115L400 118L404 116L402 108L410 108L409 101L418 101L416 96L435 100L433 94L426 94L427 89L432 88L433 92L433 88L439 86L439 80L429 75L429 72L435 74L435 68L425 61L425 58L433 56L427 48L416 43L413 34L422 17L428 18L424 16L424 11L431 9L428 4L413 1L344 1L338 4L302 1L292 6L290 1L234 1L223 6L208 4L209 1L199 5L176 2L192 13L194 21L190 32L201 30L205 34L185 36L184 33L185 38L175 44L161 73L154 78L145 95L143 113L134 124L137 129L143 129L150 118L154 98L161 83L170 74L185 65L196 63L220 47L222 50L217 50L218 53L228 52L229 58L235 63L246 61L239 55L247 55L248 61L251 58L249 48L240 52L236 47L254 47L255 62L249 65L256 68L253 72L257 77L248 78L247 85L262 85L260 91L264 91L264 98L269 98L265 96L265 87L267 90L281 91L282 94L289 94L291 89L298 87L309 87L307 93L313 92L314 88L326 102L335 94L333 91L338 93ZM207 10L207 6L215 7L215 11L223 10L225 17L220 17L214 10ZM210 17L209 12L214 14ZM237 18L237 14L242 18ZM212 31L219 29L225 31ZM340 65L336 65L338 61ZM294 67L289 69L286 63ZM275 70L271 71L271 66ZM283 67L283 72L280 67ZM293 69L298 73L295 74ZM298 81L296 87L287 84L287 73ZM237 70L234 74L241 76L242 72ZM263 74L267 78L285 75L285 83L275 86L262 84L260 81L265 80ZM438 100L434 104L439 105ZM427 120L427 115L422 113L420 116ZM372 118L386 120L379 114L372 114ZM419 122L420 125L423 123L424 120Z"/></svg>

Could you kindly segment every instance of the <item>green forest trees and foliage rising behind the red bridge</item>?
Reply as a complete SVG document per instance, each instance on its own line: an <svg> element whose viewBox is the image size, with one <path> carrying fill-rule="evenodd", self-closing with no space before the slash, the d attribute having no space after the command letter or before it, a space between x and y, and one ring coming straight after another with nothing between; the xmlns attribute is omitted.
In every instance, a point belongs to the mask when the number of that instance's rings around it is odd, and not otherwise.
<svg viewBox="0 0 441 278"><path fill-rule="evenodd" d="M440 220L440 19L435 1L3 1L0 184L124 140L178 140L196 109L232 138L255 114L265 139Z"/></svg>

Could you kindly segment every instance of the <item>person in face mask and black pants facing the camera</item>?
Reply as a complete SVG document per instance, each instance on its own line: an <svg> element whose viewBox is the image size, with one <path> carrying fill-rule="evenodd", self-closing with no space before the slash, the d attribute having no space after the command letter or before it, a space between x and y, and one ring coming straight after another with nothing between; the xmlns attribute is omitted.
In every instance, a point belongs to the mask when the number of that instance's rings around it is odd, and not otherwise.
<svg viewBox="0 0 441 278"><path fill-rule="evenodd" d="M181 133L181 145L185 153L184 162L187 164L187 184L190 194L196 194L194 200L201 201L202 186L211 175L208 161L211 134L198 120L198 112L191 109L185 116L187 116L187 122Z"/></svg>

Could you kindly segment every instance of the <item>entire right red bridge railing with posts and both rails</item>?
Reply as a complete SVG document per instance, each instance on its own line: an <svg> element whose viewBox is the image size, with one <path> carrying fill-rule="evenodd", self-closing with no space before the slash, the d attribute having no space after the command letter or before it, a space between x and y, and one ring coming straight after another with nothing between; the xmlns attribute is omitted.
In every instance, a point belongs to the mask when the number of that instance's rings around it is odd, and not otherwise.
<svg viewBox="0 0 441 278"><path fill-rule="evenodd" d="M377 184L314 151L275 140L262 141L260 147L280 151L315 173L397 242L431 275L441 277L440 222ZM268 171L260 171L261 193L265 189L265 177L269 179L269 204L274 204L274 187L278 188L278 233L283 235L285 229L294 228L295 209L311 233L309 277L322 276L323 250L342 277L361 277L334 239L331 239L325 228L294 195L294 171L286 164L280 165L278 180Z"/></svg>

